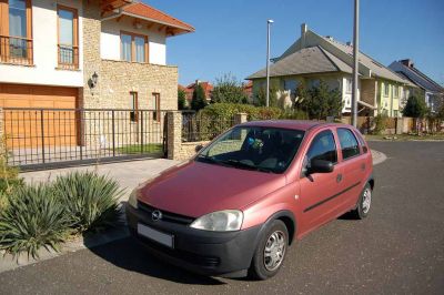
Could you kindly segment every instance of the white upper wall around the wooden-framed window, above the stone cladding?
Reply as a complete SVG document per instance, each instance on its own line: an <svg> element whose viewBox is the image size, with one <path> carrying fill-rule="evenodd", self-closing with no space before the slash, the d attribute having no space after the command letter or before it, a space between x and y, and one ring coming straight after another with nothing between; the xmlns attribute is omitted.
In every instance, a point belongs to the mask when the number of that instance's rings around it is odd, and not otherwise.
<svg viewBox="0 0 444 295"><path fill-rule="evenodd" d="M102 21L102 32L100 37L100 55L105 60L120 60L120 32L127 31L148 35L149 61L154 64L167 64L167 37L164 32L159 32L155 28L147 29L142 26L137 29L129 18L123 18L119 22L117 19Z"/></svg>

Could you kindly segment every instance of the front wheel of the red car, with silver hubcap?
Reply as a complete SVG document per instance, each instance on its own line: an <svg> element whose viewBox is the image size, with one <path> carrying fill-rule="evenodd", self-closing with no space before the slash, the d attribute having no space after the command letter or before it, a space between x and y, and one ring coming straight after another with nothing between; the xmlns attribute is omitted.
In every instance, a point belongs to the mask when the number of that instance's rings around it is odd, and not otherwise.
<svg viewBox="0 0 444 295"><path fill-rule="evenodd" d="M273 221L259 241L249 277L263 281L278 274L285 260L287 246L289 231L285 224L280 220Z"/></svg>

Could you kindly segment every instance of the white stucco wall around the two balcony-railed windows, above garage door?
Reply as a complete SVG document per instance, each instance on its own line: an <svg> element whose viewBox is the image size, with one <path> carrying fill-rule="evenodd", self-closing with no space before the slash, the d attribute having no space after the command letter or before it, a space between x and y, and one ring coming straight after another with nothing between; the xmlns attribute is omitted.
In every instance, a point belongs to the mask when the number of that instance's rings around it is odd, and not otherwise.
<svg viewBox="0 0 444 295"><path fill-rule="evenodd" d="M58 67L57 4L75 8L79 11L79 70L61 70ZM33 65L11 65L0 63L0 82L83 87L83 34L81 1L33 0L32 34Z"/></svg>

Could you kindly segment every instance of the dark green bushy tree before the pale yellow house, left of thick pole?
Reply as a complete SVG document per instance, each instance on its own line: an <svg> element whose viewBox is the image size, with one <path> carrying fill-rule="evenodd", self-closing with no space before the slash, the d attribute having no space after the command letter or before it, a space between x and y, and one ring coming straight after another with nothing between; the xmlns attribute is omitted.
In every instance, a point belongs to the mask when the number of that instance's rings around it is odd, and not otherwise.
<svg viewBox="0 0 444 295"><path fill-rule="evenodd" d="M311 119L322 120L327 116L340 116L342 98L337 89L330 89L321 80L319 87L306 89L301 84L296 90L295 108L305 111Z"/></svg>

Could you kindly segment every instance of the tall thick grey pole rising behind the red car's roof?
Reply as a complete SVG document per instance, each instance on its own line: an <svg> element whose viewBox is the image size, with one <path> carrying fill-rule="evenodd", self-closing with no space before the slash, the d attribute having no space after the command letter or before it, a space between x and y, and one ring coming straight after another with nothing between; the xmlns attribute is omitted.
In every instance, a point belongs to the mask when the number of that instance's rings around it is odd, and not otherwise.
<svg viewBox="0 0 444 295"><path fill-rule="evenodd" d="M360 44L360 0L354 0L353 26L353 91L352 91L352 125L357 125L357 75L359 75L359 44Z"/></svg>

